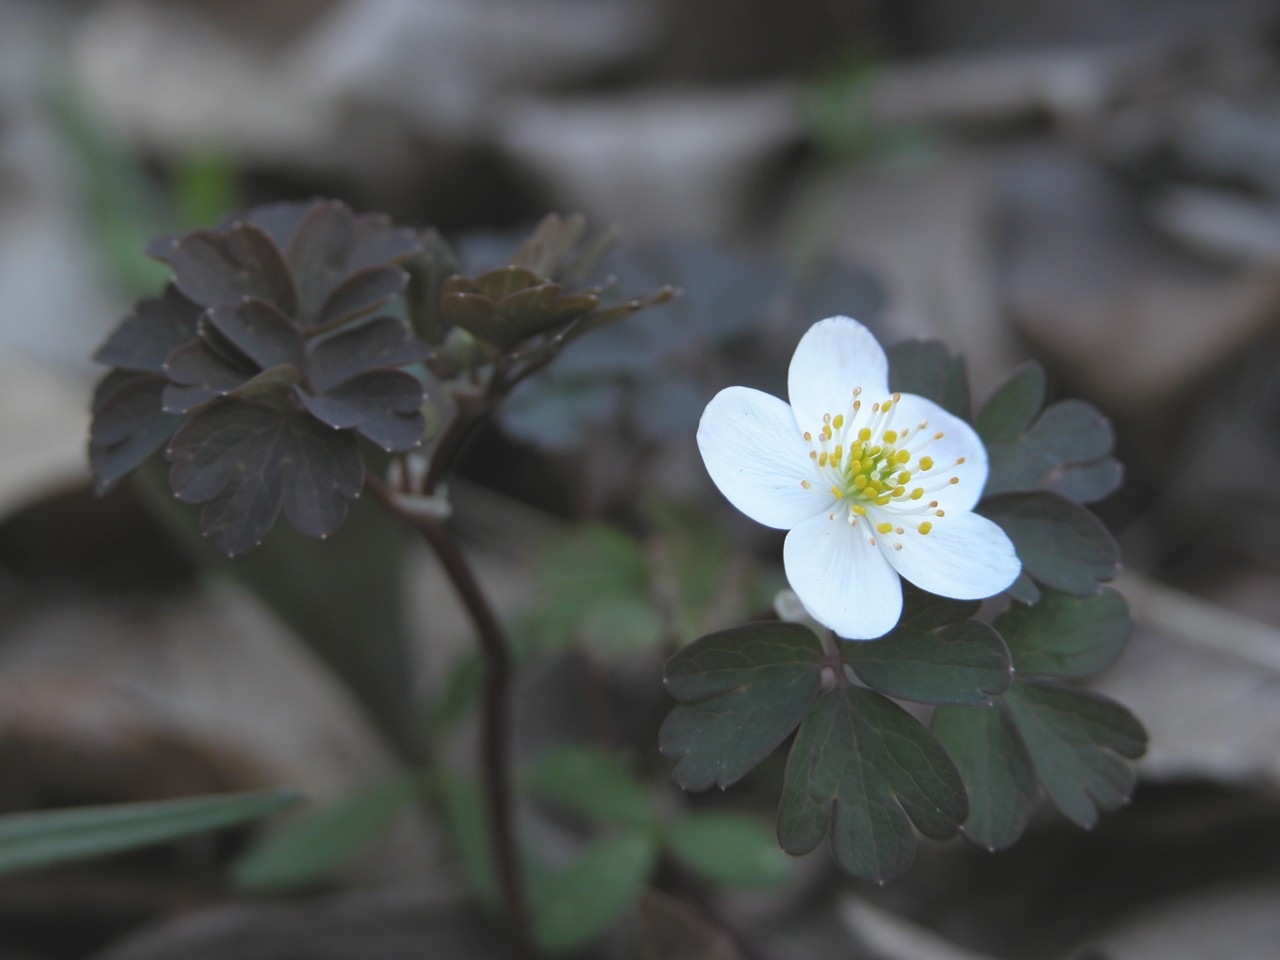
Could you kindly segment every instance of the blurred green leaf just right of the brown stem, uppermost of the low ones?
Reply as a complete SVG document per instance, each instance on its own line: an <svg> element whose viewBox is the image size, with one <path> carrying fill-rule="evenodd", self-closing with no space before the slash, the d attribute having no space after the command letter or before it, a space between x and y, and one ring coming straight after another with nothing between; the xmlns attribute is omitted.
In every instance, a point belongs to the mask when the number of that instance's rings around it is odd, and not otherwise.
<svg viewBox="0 0 1280 960"><path fill-rule="evenodd" d="M530 768L530 792L554 800L584 817L621 823L653 823L649 791L623 759L589 746L561 746Z"/></svg>

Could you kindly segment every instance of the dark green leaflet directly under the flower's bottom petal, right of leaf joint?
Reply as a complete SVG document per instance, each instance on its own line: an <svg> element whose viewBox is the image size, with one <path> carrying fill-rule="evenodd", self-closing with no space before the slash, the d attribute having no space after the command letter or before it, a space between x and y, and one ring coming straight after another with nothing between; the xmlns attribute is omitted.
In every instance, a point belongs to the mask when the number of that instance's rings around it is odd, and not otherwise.
<svg viewBox="0 0 1280 960"><path fill-rule="evenodd" d="M867 686L922 703L986 703L1009 686L1009 652L974 620L936 630L899 623L873 643L846 643L845 662Z"/></svg>

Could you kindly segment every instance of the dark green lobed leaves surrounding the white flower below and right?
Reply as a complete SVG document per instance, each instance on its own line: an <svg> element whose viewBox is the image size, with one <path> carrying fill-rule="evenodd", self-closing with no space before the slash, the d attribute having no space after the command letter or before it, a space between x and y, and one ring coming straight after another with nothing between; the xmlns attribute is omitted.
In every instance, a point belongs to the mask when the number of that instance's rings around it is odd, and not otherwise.
<svg viewBox="0 0 1280 960"><path fill-rule="evenodd" d="M1105 669L1132 630L1102 584L1115 541L1084 503L1120 483L1106 419L1075 401L1042 411L1044 375L1027 366L972 416L965 369L937 343L890 351L895 389L972 419L991 474L979 512L1018 548L1024 573L989 623L977 603L906 585L902 617L872 643L824 648L797 623L710 634L667 664L678 701L660 732L686 790L727 787L794 736L778 841L804 854L824 836L846 873L886 882L922 833L963 832L992 850L1025 829L1044 794L1089 827L1133 791L1142 724L1070 681ZM927 705L908 712L897 700Z"/></svg>

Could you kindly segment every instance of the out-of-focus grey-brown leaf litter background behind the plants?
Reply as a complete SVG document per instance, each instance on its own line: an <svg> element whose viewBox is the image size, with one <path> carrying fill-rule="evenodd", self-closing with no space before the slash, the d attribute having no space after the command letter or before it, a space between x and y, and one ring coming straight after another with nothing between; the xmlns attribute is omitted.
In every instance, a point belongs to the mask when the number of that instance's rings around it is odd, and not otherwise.
<svg viewBox="0 0 1280 960"><path fill-rule="evenodd" d="M1091 835L1046 812L997 855L929 847L887 891L819 852L716 909L778 957L1280 955L1274 4L0 0L0 812L333 800L465 689L465 620L375 520L337 567L279 530L227 564L146 484L88 489L91 353L165 278L142 243L317 195L480 264L581 211L621 227L621 288L682 289L513 399L454 492L544 654L526 701L594 677L591 703L517 714L521 755L603 728L662 803L684 803L662 644L780 582L777 538L694 448L717 389L781 393L799 334L841 312L945 339L978 402L1034 358L1100 407L1138 630L1096 686L1152 736L1134 804ZM602 563L622 572L584 586ZM442 753L465 760L462 728ZM776 785L730 792L767 812ZM463 895L448 837L406 815L270 904L225 879L247 831L12 878L0 960L425 956L424 916ZM458 936L440 956L488 955ZM687 955L737 955L717 948Z"/></svg>

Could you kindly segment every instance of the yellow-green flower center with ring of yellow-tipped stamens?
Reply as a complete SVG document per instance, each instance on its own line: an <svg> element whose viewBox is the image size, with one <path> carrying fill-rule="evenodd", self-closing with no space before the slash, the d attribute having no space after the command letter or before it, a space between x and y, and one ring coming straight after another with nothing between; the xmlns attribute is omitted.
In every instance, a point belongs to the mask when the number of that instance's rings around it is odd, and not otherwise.
<svg viewBox="0 0 1280 960"><path fill-rule="evenodd" d="M844 413L823 413L817 434L804 433L817 479L801 483L806 489L818 484L831 490L840 506L829 520L844 516L858 526L865 518L873 545L879 534L900 550L897 538L909 531L928 535L936 518L946 516L931 495L960 483L950 470L964 463L964 457L940 465L925 453L943 436L941 430L929 430L928 420L914 426L895 424L902 394L868 407L861 393L861 387L854 389Z"/></svg>

